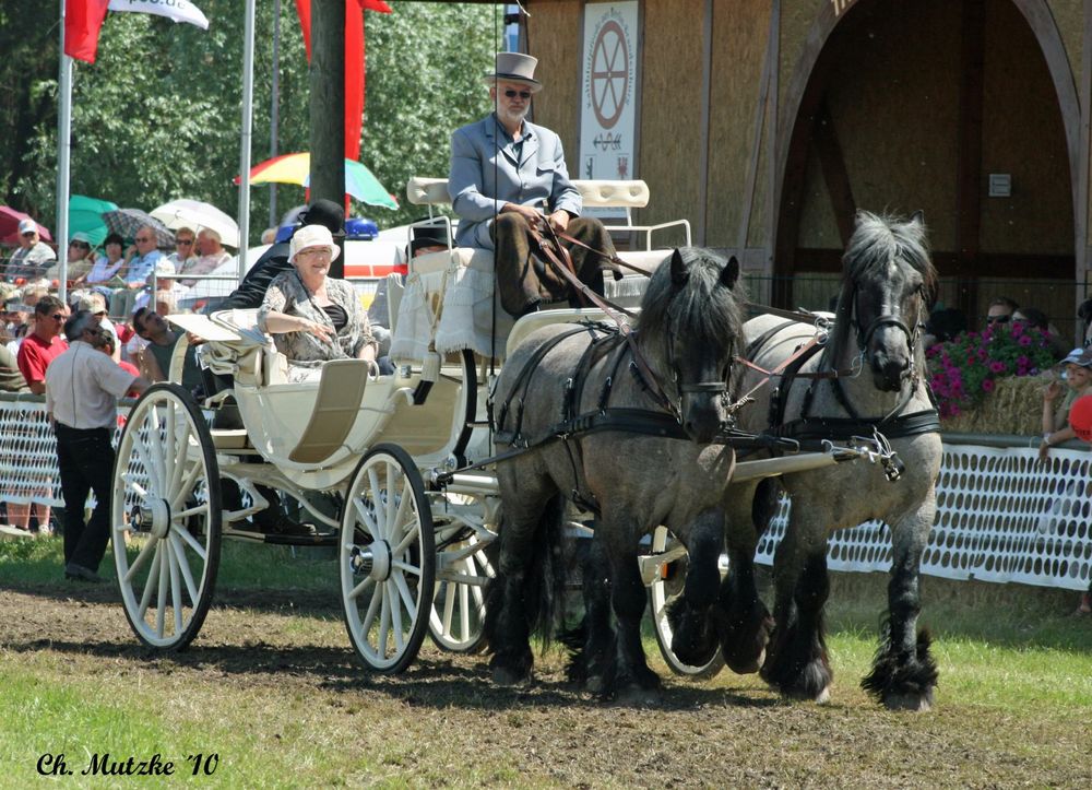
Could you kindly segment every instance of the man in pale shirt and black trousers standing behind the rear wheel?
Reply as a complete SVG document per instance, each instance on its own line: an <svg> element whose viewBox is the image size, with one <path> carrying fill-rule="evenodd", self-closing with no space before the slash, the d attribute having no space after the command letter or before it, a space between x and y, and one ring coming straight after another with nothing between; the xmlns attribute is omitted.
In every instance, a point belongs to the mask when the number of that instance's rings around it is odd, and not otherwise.
<svg viewBox="0 0 1092 790"><path fill-rule="evenodd" d="M109 334L95 317L80 310L64 322L71 345L50 365L46 411L57 434L57 462L64 498L64 576L102 581L98 566L110 538L114 483L114 428L118 398L142 392L149 381L123 370L103 353ZM84 519L87 495L95 509Z"/></svg>

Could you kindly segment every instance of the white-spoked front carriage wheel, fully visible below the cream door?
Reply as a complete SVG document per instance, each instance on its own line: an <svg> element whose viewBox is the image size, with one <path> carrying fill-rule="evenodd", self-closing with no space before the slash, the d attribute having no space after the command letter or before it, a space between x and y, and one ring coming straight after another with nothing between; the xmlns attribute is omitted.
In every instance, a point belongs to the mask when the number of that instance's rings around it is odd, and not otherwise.
<svg viewBox="0 0 1092 790"><path fill-rule="evenodd" d="M339 542L345 626L360 659L402 672L428 628L436 571L432 515L413 459L378 445L353 474Z"/></svg>

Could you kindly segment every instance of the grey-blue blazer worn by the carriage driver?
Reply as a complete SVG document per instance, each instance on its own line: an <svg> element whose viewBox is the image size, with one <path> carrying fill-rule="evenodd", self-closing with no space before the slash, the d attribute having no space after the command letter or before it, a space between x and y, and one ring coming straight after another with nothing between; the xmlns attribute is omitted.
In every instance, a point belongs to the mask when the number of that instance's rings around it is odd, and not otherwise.
<svg viewBox="0 0 1092 790"><path fill-rule="evenodd" d="M561 138L545 127L523 122L523 152L490 115L451 135L448 196L459 215L455 244L492 249L489 225L505 203L565 209L580 215L580 192L569 181Z"/></svg>

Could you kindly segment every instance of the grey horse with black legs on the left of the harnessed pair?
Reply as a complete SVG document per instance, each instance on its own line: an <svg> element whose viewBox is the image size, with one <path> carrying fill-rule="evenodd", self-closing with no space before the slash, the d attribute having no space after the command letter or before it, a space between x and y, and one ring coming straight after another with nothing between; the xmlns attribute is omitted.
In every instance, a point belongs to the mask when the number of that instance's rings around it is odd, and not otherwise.
<svg viewBox="0 0 1092 790"><path fill-rule="evenodd" d="M555 625L566 498L597 511L593 551L605 564L584 583L603 608L609 601L618 623L617 633L589 635L589 687L634 696L660 687L641 644L645 588L637 561L641 538L660 524L670 526L691 557L676 649L705 660L715 655L708 612L720 585L721 497L735 455L709 443L728 417L740 351L738 276L734 258L676 250L650 280L636 353L617 333L558 325L529 335L507 359L494 394L496 449L530 447L497 467L502 523L485 622L495 682L529 680L530 635L548 636ZM565 440L554 440L567 413L610 422L570 424ZM596 618L609 623L609 613Z"/></svg>

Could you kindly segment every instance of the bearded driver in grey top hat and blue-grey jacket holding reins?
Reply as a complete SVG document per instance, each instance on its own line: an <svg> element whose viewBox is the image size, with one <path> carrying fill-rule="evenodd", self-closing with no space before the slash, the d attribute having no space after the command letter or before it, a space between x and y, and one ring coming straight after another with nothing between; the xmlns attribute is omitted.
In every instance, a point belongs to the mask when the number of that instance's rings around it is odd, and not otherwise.
<svg viewBox="0 0 1092 790"><path fill-rule="evenodd" d="M603 293L604 269L620 276L605 257L615 252L610 234L598 220L580 216L583 202L569 180L561 139L526 120L531 97L543 87L534 79L537 63L530 55L498 52L486 78L494 113L451 137L448 194L460 219L455 244L495 250L500 303L513 316L574 297L561 274L531 259L537 245L529 233L543 223L605 253L563 243L577 276L593 291Z"/></svg>

